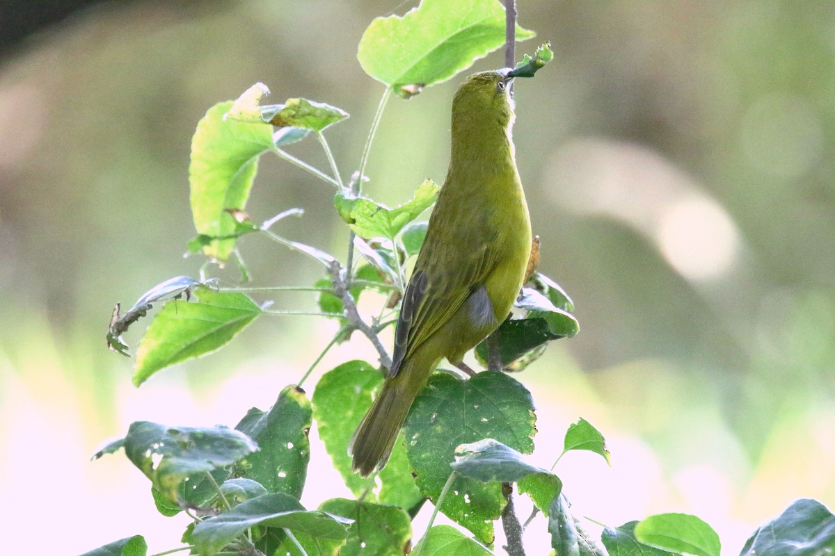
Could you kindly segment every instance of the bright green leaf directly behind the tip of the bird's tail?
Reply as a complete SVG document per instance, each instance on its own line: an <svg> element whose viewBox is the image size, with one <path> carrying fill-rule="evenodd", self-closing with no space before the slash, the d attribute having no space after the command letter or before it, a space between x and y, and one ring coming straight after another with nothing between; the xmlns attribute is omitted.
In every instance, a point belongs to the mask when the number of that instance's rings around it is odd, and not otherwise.
<svg viewBox="0 0 835 556"><path fill-rule="evenodd" d="M325 373L313 392L313 417L333 466L357 497L401 508L412 508L423 499L415 486L402 442L394 444L392 457L375 477L362 478L351 468L348 442L371 407L372 394L382 387L382 373L365 361L349 361Z"/></svg>

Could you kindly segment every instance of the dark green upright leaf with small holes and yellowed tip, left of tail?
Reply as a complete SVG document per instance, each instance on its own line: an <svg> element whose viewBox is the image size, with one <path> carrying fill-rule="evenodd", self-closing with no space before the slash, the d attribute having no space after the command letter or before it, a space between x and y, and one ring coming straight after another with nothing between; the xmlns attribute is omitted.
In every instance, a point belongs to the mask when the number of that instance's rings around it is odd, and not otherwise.
<svg viewBox="0 0 835 556"><path fill-rule="evenodd" d="M235 427L261 448L235 466L239 477L261 483L269 493L301 498L310 461L312 408L304 390L287 386L269 413L251 408Z"/></svg>

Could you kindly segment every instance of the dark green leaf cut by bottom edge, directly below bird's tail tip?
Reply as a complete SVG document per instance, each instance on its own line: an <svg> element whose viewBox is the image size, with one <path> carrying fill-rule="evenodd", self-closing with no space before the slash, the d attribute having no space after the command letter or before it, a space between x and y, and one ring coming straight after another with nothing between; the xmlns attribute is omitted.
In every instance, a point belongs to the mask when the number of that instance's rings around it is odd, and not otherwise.
<svg viewBox="0 0 835 556"><path fill-rule="evenodd" d="M339 551L340 556L402 556L411 548L412 522L402 508L331 498L321 503L319 509L354 522L348 528L348 539Z"/></svg>

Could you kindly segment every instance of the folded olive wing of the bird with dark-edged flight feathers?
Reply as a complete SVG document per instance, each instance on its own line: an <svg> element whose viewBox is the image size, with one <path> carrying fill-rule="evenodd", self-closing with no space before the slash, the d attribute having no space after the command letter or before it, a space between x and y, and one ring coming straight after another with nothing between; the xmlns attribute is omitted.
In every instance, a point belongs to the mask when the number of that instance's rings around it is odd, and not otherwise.
<svg viewBox="0 0 835 556"><path fill-rule="evenodd" d="M397 318L390 377L397 374L404 358L452 318L495 264L495 250L487 238L462 249L450 248L451 244L434 249L425 244L428 262L418 257Z"/></svg>

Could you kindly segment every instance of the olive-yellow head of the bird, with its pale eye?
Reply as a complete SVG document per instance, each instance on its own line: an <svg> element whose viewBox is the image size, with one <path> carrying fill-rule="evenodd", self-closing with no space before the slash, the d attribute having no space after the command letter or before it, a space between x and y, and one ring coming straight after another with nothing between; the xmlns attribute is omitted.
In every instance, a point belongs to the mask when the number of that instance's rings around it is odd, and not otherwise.
<svg viewBox="0 0 835 556"><path fill-rule="evenodd" d="M514 101L510 96L514 78L508 76L508 71L474 73L465 79L453 99L453 118L494 116L501 125L508 126L514 118Z"/></svg>

